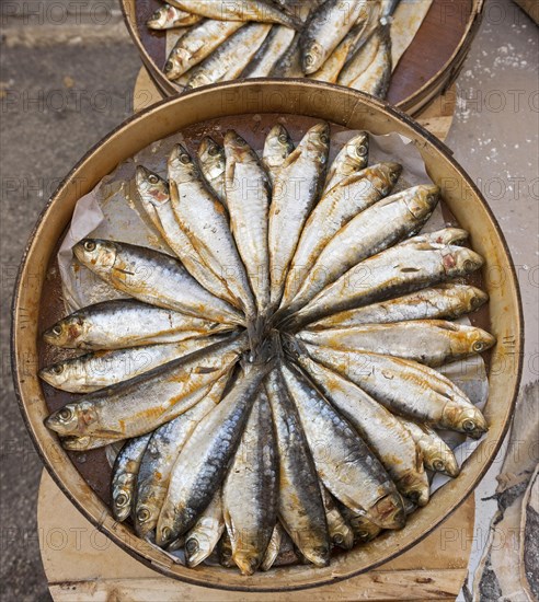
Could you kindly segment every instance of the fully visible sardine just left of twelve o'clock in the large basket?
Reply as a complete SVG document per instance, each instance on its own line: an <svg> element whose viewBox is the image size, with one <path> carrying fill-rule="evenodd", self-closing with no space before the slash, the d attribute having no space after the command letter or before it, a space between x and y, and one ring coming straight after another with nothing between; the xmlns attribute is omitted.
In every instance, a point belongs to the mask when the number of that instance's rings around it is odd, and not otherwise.
<svg viewBox="0 0 539 602"><path fill-rule="evenodd" d="M270 178L256 153L233 130L225 136L225 152L230 228L254 291L259 315L264 315L270 304Z"/></svg>

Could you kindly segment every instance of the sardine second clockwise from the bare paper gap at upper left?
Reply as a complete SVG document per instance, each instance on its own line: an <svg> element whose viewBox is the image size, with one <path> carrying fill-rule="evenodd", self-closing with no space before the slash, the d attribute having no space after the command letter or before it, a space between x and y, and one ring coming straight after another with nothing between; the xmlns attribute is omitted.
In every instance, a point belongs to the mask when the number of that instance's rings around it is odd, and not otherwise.
<svg viewBox="0 0 539 602"><path fill-rule="evenodd" d="M227 211L206 188L198 169L181 144L170 154L169 178L172 209L180 227L203 262L227 282L248 320L252 319L254 301Z"/></svg>

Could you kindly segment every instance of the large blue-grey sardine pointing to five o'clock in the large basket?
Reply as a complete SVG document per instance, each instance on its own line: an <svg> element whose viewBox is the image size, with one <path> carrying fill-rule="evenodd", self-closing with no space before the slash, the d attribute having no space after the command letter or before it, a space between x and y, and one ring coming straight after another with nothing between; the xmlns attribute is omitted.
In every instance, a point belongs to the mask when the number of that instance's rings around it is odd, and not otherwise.
<svg viewBox="0 0 539 602"><path fill-rule="evenodd" d="M280 371L325 487L342 503L363 512L379 526L402 528L402 500L379 460L306 377L287 364Z"/></svg>

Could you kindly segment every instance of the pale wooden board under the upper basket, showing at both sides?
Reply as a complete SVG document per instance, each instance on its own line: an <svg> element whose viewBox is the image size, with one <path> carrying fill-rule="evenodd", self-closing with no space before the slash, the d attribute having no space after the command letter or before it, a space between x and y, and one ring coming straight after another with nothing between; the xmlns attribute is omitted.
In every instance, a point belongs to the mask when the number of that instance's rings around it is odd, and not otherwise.
<svg viewBox="0 0 539 602"><path fill-rule="evenodd" d="M163 100L157 84L151 79L148 70L142 67L137 76L135 90L133 93L133 111L138 113ZM441 96L435 99L426 108L424 108L415 120L434 134L436 138L445 140L449 134L449 128L455 117L455 107L457 105L457 85L451 88Z"/></svg>

